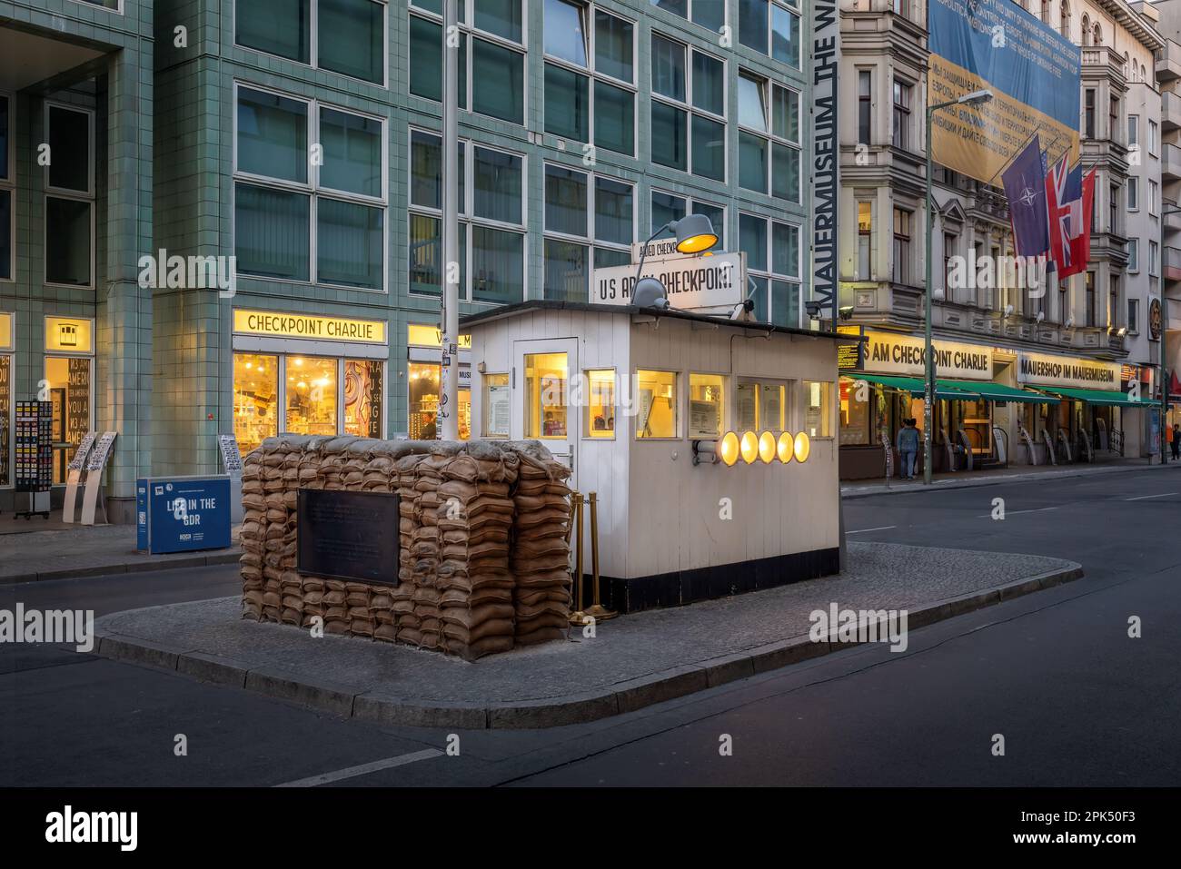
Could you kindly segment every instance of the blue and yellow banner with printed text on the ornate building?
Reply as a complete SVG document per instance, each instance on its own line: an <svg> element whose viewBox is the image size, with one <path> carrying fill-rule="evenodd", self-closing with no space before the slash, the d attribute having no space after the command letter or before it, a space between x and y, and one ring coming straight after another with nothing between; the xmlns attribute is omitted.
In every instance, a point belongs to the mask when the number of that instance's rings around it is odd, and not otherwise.
<svg viewBox="0 0 1181 869"><path fill-rule="evenodd" d="M991 90L983 105L932 118L932 158L998 184L1001 170L1038 133L1052 165L1078 159L1078 46L1012 0L929 0L927 105Z"/></svg>

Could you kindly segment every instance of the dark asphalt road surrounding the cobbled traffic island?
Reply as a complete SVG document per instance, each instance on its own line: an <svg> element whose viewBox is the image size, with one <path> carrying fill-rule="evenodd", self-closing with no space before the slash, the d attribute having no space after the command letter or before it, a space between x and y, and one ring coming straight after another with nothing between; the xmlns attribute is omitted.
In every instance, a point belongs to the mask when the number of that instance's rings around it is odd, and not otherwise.
<svg viewBox="0 0 1181 869"><path fill-rule="evenodd" d="M443 731L0 646L0 785L1181 784L1181 469L874 496L847 501L846 524L856 540L1059 556L1087 576L914 630L905 653L856 647L589 725L459 732L457 756ZM0 607L104 613L236 589L231 567L197 568L4 587Z"/></svg>

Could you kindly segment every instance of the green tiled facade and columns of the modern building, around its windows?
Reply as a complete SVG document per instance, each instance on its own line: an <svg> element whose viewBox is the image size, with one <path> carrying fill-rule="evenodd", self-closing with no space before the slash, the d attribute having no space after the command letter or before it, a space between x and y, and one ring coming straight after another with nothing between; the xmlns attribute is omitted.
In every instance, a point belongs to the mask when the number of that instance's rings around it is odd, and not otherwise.
<svg viewBox="0 0 1181 869"><path fill-rule="evenodd" d="M653 190L724 207L726 250L740 249L746 241L739 213L800 227L797 264L791 267L796 275L776 286L790 287L791 295L795 295L795 287L801 286L802 298L807 298L804 203L809 192L810 90L805 70L810 8L800 0L795 4L781 0L775 5L777 14L797 14L801 20L801 68L792 68L742 44L740 28L745 26L750 32L751 11L765 9L765 4L727 0L722 13L720 2L696 1L700 4L702 19L724 14L727 30L716 33L678 15L676 11L683 8L687 15L698 17L690 0L665 1L659 6L646 0L603 0L590 7L592 15L593 11L601 11L633 26L635 152L624 156L598 148L594 165L588 166L580 142L562 141L546 131L547 4L523 0L524 123L508 123L472 111L459 112L462 138L475 146L487 144L523 157L524 280L521 299L543 298L554 292L544 281L547 164L593 171L632 184L635 241L644 241L650 235ZM341 7L351 5L348 0L332 2ZM365 6L368 0L355 2ZM220 471L216 436L233 431L235 308L385 321L389 347L384 431L392 437L407 430L407 324L438 320L437 296L411 293L409 280L410 131L438 132L442 128L441 104L410 92L411 18L419 22L438 20L432 12L439 8L438 0L419 2L420 8L418 4L407 8L405 0L393 0L385 6L384 85L237 45L235 0L156 0L155 9L150 4L123 0L122 13L91 8L78 0L37 0L38 7L48 7L47 12L34 11L24 4L0 2L0 26L34 26L45 34L53 34L54 39L93 40L106 52L98 79L105 91L91 94L98 110L99 129L104 131L103 146L96 156L98 175L104 182L97 191L96 208L99 288L63 292L44 287L40 281L38 269L44 256L34 242L41 231L40 216L34 208L39 194L33 195L39 185L32 183L30 163L35 159L32 150L35 130L21 120L30 117L25 103L40 97L20 93L15 129L18 161L22 166L20 184L28 187L30 192L21 191L15 215L18 280L15 285L0 285L0 309L17 312L20 333L15 380L20 397L35 387L41 366L41 338L32 334L40 328L40 316L65 312L97 318L94 423L99 431L112 427L120 433L110 496L130 497L137 473ZM469 2L475 2L475 8L482 6L479 0ZM291 9L300 7L299 0L250 0L252 7L268 4ZM489 5L497 11L511 6L504 0ZM317 0L311 0L312 31L317 30ZM59 18L53 19L54 13ZM18 21L28 25L18 25ZM65 22L65 31L60 21ZM470 27L464 30L471 32ZM725 64L724 182L668 169L651 159L653 33ZM478 34L472 33L469 38L478 38ZM420 61L417 68L423 68ZM792 131L803 149L798 157L798 202L772 198L738 183L739 68L798 93L798 124ZM235 254L235 92L236 86L242 85L296 99L314 99L325 106L360 112L383 122L385 292L257 279L243 273L241 264L231 296L215 289L139 289L136 282L138 257L161 248L181 256ZM686 94L684 102L691 100L692 94ZM769 97L766 103L770 103ZM469 146L468 155L471 152ZM768 254L766 259L771 260L772 255ZM770 268L769 262L768 272ZM771 315L778 321L797 316L798 298L795 295L789 307L788 296L778 293L772 300ZM462 305L461 313L487 307L487 303L469 302Z"/></svg>

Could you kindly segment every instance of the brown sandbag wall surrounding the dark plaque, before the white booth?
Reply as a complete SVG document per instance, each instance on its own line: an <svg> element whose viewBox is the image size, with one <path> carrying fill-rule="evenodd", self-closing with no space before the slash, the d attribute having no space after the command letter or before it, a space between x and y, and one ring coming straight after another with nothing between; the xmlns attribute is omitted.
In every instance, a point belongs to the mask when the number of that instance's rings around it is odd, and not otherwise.
<svg viewBox="0 0 1181 869"><path fill-rule="evenodd" d="M537 442L268 438L243 460L242 615L474 660L565 634L569 470ZM399 584L296 571L300 488L397 492Z"/></svg>

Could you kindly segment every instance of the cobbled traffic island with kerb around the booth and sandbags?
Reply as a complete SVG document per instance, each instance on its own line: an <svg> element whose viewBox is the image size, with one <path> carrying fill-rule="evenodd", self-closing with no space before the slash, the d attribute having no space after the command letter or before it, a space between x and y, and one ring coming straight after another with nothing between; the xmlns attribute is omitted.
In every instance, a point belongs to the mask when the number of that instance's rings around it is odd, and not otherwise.
<svg viewBox="0 0 1181 869"><path fill-rule="evenodd" d="M241 619L240 599L100 618L97 653L387 725L553 727L629 712L839 651L814 642L815 609L906 609L907 628L1082 576L1075 562L887 543L849 543L839 575L627 615L594 638L472 664L348 636Z"/></svg>

